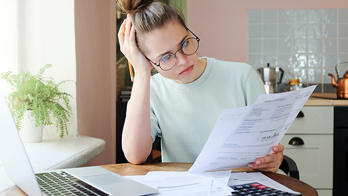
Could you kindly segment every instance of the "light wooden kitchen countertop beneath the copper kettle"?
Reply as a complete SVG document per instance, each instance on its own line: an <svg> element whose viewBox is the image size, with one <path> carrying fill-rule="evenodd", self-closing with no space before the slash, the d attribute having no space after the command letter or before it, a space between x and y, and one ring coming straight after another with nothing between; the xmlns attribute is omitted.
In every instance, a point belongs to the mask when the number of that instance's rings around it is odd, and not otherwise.
<svg viewBox="0 0 348 196"><path fill-rule="evenodd" d="M348 99L337 99L336 94L331 93L313 93L305 105L348 105Z"/></svg>

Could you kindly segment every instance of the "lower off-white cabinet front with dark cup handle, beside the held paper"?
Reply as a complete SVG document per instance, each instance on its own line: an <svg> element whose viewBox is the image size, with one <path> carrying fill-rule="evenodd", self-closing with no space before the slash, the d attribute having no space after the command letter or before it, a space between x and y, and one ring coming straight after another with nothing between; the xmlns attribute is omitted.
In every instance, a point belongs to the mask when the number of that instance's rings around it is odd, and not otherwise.
<svg viewBox="0 0 348 196"><path fill-rule="evenodd" d="M304 145L290 145L294 137ZM295 161L301 181L315 189L333 189L333 134L286 134L280 144L285 147L284 155Z"/></svg>

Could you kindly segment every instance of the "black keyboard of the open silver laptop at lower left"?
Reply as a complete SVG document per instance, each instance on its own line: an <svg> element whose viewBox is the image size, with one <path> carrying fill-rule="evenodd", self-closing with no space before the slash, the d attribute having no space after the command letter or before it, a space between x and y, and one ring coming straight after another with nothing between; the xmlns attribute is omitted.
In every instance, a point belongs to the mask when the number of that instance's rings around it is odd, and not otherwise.
<svg viewBox="0 0 348 196"><path fill-rule="evenodd" d="M41 192L47 196L109 196L64 171L35 175Z"/></svg>

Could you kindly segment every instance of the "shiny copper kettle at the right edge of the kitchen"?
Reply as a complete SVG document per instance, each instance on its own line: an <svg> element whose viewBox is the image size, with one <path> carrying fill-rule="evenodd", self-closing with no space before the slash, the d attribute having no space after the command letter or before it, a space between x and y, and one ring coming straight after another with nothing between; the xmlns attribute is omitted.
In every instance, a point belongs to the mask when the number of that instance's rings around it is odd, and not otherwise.
<svg viewBox="0 0 348 196"><path fill-rule="evenodd" d="M332 86L337 88L337 98L338 99L348 99L348 71L345 73L343 78L339 77L339 72L337 71L337 66L340 64L344 64L348 62L342 62L336 65L336 73L337 73L337 83L335 76L333 74L329 74L332 77Z"/></svg>

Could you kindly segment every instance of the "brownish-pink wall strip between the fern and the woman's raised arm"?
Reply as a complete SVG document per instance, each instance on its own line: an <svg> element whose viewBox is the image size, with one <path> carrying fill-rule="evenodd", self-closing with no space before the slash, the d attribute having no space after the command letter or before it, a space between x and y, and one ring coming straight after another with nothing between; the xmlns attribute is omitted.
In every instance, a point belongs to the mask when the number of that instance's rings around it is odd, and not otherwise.
<svg viewBox="0 0 348 196"><path fill-rule="evenodd" d="M115 0L75 0L75 35L78 132L106 142L85 166L116 163Z"/></svg>

